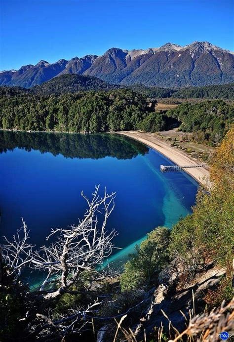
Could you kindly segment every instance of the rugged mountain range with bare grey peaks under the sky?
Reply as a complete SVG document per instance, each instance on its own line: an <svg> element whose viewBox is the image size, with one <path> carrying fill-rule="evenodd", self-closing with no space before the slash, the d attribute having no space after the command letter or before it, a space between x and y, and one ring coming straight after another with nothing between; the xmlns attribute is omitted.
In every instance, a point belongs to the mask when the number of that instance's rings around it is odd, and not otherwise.
<svg viewBox="0 0 234 342"><path fill-rule="evenodd" d="M44 60L19 70L0 72L0 85L32 87L64 74L94 76L110 84L161 87L220 85L234 82L234 53L208 42L186 46L166 43L158 48L111 48L55 63Z"/></svg>

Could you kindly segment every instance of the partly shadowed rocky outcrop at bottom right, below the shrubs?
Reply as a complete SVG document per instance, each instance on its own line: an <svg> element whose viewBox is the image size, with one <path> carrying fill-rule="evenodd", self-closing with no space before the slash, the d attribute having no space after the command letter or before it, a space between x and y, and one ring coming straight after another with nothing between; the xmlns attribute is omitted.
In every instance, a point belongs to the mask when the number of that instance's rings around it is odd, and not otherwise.
<svg viewBox="0 0 234 342"><path fill-rule="evenodd" d="M163 326L163 331L170 334L173 329L179 332L187 327L190 317L203 311L204 296L209 289L216 289L226 270L214 267L212 263L205 265L186 285L180 284L181 272L174 272L176 261L173 261L170 272L159 274L159 284L151 295L147 309L143 312L140 323L135 327L138 341L143 338L144 331L149 336L155 327ZM168 268L167 268L168 270ZM179 290L178 290L179 288ZM174 328L173 328L174 327Z"/></svg>

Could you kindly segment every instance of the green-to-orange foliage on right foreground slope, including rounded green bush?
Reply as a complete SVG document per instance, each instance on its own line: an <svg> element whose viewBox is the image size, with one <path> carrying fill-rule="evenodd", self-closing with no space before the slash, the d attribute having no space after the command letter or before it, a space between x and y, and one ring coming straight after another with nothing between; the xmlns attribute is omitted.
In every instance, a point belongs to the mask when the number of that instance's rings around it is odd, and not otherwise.
<svg viewBox="0 0 234 342"><path fill-rule="evenodd" d="M195 274L198 267L213 261L227 269L221 291L210 293L209 305L231 299L231 260L234 222L234 128L211 162L212 189L198 191L193 214L181 219L172 228L156 228L148 235L137 253L125 264L120 278L121 289L141 288L169 260L177 258ZM218 296L217 296L218 294Z"/></svg>

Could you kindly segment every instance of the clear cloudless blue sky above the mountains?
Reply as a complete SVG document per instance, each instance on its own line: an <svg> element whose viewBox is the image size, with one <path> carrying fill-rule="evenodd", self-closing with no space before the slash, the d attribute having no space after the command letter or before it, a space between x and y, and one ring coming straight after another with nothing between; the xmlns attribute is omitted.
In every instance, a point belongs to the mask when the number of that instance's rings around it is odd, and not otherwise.
<svg viewBox="0 0 234 342"><path fill-rule="evenodd" d="M234 0L1 0L0 70L110 47L208 41L234 50Z"/></svg>

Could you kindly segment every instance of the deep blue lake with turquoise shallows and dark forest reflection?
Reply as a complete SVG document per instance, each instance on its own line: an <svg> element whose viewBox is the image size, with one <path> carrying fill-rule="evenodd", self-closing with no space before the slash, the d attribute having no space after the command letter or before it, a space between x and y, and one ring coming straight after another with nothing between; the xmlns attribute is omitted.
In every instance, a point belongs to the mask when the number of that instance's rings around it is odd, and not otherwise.
<svg viewBox="0 0 234 342"><path fill-rule="evenodd" d="M153 149L117 134L0 131L0 236L26 221L32 242L45 243L51 228L78 223L85 211L81 190L95 184L116 191L108 229L117 247L142 239L158 225L171 227L191 212L198 184L185 172L159 171L172 163Z"/></svg>

